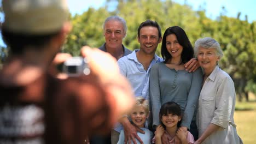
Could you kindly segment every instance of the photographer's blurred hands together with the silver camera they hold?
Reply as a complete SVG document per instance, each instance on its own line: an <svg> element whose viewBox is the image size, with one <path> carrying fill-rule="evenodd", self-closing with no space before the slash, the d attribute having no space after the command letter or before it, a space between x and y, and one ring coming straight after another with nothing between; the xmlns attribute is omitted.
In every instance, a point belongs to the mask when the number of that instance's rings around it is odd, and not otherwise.
<svg viewBox="0 0 256 144"><path fill-rule="evenodd" d="M68 53L57 53L53 64L59 72L55 70L54 74L66 79L68 76L88 75L93 72L103 81L115 79L120 75L117 61L109 53L84 46L81 55L82 57L72 57Z"/></svg>

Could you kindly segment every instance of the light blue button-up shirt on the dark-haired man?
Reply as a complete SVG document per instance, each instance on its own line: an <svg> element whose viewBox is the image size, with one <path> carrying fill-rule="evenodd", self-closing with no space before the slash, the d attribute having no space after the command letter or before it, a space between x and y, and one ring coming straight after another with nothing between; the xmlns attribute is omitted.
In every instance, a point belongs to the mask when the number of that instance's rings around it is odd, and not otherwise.
<svg viewBox="0 0 256 144"><path fill-rule="evenodd" d="M149 75L151 67L158 62L162 62L163 59L155 55L154 59L150 63L148 70L146 71L141 63L139 63L136 52L134 50L130 55L121 57L118 60L118 65L120 68L121 74L123 74L127 80L131 83L135 97L141 96L149 100ZM150 117L150 116L149 116ZM147 119L148 120L148 119ZM148 128L150 122L146 121L146 128ZM120 123L115 125L114 130L120 131L123 129L123 126Z"/></svg>

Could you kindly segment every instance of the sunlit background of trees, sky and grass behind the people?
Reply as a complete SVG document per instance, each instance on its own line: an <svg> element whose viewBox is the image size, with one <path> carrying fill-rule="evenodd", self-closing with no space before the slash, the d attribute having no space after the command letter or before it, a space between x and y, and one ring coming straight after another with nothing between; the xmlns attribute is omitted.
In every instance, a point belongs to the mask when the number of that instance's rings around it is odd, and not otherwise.
<svg viewBox="0 0 256 144"><path fill-rule="evenodd" d="M0 1L2 2L2 0ZM219 41L224 51L220 67L229 73L236 86L235 122L238 134L242 137L244 143L255 143L256 132L252 130L256 124L255 0L174 0L172 2L178 4L173 4L172 8L169 5L166 8L167 13L165 14L167 15L161 15L162 11L159 9L162 7L155 7L157 5L155 3L156 1L170 2L171 0L67 1L71 11L73 30L68 35L67 43L62 50L63 52L72 53L72 55L79 55L80 47L83 45L93 47L102 45L104 43L102 23L107 16L113 14L120 14L127 21L127 37L123 40L123 44L130 50L139 49L136 40L137 26L148 17L159 20L162 33L167 27L182 26L193 44L200 37L213 37ZM131 5L122 5L123 9L117 9L118 2L130 2L129 4L131 4L135 1L150 2L143 5L148 7L149 10L129 9L129 7L132 7ZM137 3L132 4L136 7L138 5ZM104 8L107 8L107 10ZM169 8L170 11L168 11ZM118 13L118 10L121 12ZM130 13L133 15L131 16ZM179 16L179 14L182 16ZM3 20L4 15L0 14L0 21ZM5 45L0 34L0 66L7 55L7 49L3 47ZM156 53L160 56L159 48Z"/></svg>

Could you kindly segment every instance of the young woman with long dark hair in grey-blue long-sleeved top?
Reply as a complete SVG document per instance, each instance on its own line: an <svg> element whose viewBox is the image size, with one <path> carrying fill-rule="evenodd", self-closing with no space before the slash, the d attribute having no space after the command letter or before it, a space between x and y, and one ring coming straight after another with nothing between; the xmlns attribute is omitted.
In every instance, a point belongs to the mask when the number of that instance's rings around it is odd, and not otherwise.
<svg viewBox="0 0 256 144"><path fill-rule="evenodd" d="M164 62L156 63L150 71L150 99L152 103L153 127L159 125L162 104L175 101L181 106L184 117L181 128L190 130L197 138L194 113L202 86L202 70L193 73L185 70L184 64L193 58L193 47L181 27L166 29L162 38L161 55Z"/></svg>

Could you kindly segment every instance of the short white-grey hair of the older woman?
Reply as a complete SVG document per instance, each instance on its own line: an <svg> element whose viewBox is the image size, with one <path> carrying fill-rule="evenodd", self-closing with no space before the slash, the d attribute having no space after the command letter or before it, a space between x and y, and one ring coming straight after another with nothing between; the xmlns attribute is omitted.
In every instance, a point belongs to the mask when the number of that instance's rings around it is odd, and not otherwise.
<svg viewBox="0 0 256 144"><path fill-rule="evenodd" d="M213 38L206 37L206 38L197 39L195 41L194 51L196 56L198 54L199 47L203 47L206 49L210 49L210 48L216 49L217 56L219 56L219 58L223 57L223 52L222 52L222 49L220 48L218 41L216 41Z"/></svg>

